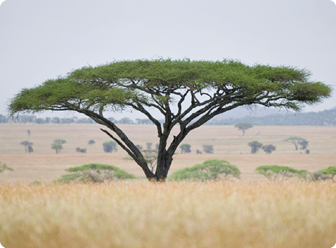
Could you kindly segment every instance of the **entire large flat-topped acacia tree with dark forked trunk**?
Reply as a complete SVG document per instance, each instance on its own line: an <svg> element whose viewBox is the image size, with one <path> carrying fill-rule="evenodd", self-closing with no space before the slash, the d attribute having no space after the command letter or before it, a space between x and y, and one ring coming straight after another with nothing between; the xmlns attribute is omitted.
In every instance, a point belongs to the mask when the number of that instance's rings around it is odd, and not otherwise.
<svg viewBox="0 0 336 248"><path fill-rule="evenodd" d="M9 111L11 116L45 110L84 113L108 128L101 130L134 158L149 180L165 181L179 144L214 116L253 104L297 111L330 96L330 86L309 77L306 69L249 66L235 60L120 61L83 67L24 88L11 99ZM129 137L104 116L105 111L124 109L139 111L156 125L160 144L155 173ZM163 124L150 109L163 115ZM175 125L179 134L168 144Z"/></svg>

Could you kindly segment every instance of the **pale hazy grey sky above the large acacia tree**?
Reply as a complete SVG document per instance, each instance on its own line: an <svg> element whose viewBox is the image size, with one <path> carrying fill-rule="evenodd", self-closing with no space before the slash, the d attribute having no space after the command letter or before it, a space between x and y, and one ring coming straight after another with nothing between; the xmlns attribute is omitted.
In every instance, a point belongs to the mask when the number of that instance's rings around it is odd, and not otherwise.
<svg viewBox="0 0 336 248"><path fill-rule="evenodd" d="M158 56L291 65L335 87L336 4L6 0L0 5L0 113L6 114L6 102L21 88L72 69ZM306 111L333 106L335 93Z"/></svg>

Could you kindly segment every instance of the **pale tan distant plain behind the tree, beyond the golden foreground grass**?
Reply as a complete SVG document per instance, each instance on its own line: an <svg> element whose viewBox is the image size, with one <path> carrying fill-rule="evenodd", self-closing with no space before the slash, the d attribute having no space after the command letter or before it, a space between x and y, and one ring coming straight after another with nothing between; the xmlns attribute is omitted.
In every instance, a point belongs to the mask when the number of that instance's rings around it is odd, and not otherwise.
<svg viewBox="0 0 336 248"><path fill-rule="evenodd" d="M0 161L13 167L14 172L0 174L2 182L32 182L52 181L57 179L68 167L87 163L103 163L115 165L138 177L143 177L140 167L132 160L124 160L127 153L119 149L116 153L104 153L103 142L110 138L101 132L98 124L83 125L0 125ZM157 144L158 139L154 125L120 125L129 135L134 144L146 148L146 142ZM28 137L27 130L31 130ZM173 134L177 133L177 129ZM304 137L309 141L311 154L295 151L293 144L284 142L290 136ZM56 154L51 150L54 139L65 139L64 150ZM89 139L96 144L88 145ZM20 142L33 142L34 153L25 153ZM256 155L250 153L248 142L257 140L263 144L273 144L276 151L266 155L259 151ZM245 181L263 180L255 174L259 165L287 165L296 169L306 169L311 172L324 167L336 165L336 127L312 126L255 126L246 131L245 136L233 126L204 125L188 135L185 142L191 144L190 154L174 156L170 173L182 167L193 166L207 159L224 159L237 165ZM203 144L214 146L214 154L196 155L196 149L202 150ZM86 154L75 151L76 147L86 148Z"/></svg>

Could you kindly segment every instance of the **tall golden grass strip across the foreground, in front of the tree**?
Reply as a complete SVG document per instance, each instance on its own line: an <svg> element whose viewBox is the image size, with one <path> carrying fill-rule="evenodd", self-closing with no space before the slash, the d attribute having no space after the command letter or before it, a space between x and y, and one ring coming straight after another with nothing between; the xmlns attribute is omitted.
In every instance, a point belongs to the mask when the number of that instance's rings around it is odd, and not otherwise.
<svg viewBox="0 0 336 248"><path fill-rule="evenodd" d="M336 184L0 184L5 248L331 248Z"/></svg>

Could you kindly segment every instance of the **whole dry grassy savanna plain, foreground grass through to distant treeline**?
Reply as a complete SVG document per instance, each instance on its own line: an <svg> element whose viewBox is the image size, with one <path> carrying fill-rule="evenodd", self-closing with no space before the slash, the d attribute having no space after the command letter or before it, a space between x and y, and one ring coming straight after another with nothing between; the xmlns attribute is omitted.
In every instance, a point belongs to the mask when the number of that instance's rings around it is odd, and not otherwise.
<svg viewBox="0 0 336 248"><path fill-rule="evenodd" d="M153 125L120 125L134 144L157 144ZM103 184L53 184L68 167L115 165L137 177L140 167L127 153L104 153L109 141L91 125L0 125L0 161L14 169L0 174L0 244L7 247L333 247L336 244L336 184L283 183L255 172L260 165L286 165L315 172L335 166L335 127L205 125L185 142L191 153L174 156L171 172L208 159L227 160L242 172L239 181L167 182L146 179ZM31 131L30 136L27 130ZM174 130L173 135L178 130ZM309 155L285 142L309 141ZM51 150L54 139L64 149ZM95 144L89 145L90 139ZM22 141L33 143L25 153ZM251 154L248 142L276 151ZM213 154L196 154L202 145ZM86 148L84 154L77 147ZM126 159L125 159L126 158ZM39 184L32 184L39 181Z"/></svg>

